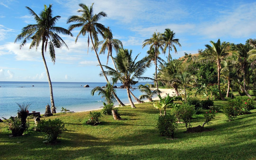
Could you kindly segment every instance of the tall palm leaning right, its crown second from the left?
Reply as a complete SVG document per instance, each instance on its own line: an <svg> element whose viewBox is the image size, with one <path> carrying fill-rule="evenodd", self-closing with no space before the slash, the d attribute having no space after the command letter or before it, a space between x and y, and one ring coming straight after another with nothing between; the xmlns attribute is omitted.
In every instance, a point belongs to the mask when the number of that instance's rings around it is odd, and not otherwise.
<svg viewBox="0 0 256 160"><path fill-rule="evenodd" d="M88 34L88 39L87 39L88 50L87 50L87 53L89 51L89 44L90 44L90 40L91 40L92 48L93 48L93 50L95 52L95 55L97 57L99 66L101 68L101 71L104 73L104 70L103 70L101 62L100 62L100 58L99 58L98 53L97 53L97 48L95 47L94 42L97 43L99 41L98 34L100 34L102 37L104 37L103 32L108 31L108 29L104 25L98 23L98 21L102 17L106 17L107 14L103 11L99 12L98 14L94 14L94 12L93 12L93 3L90 7L83 4L83 3L80 3L78 5L81 7L81 9L78 9L77 12L81 13L81 16L73 15L73 16L70 16L67 20L67 23L77 22L78 24L70 25L68 30L72 31L74 28L81 27L81 30L79 31L75 42L77 42L77 39L81 34L83 36ZM94 39L94 42L93 42L93 39ZM105 74L104 74L104 77L105 77L106 81L108 82L109 80L108 80L108 78ZM120 99L117 97L117 95L115 93L114 93L114 96L115 96L116 100L118 101L118 103L120 105L124 106L124 104L120 101Z"/></svg>

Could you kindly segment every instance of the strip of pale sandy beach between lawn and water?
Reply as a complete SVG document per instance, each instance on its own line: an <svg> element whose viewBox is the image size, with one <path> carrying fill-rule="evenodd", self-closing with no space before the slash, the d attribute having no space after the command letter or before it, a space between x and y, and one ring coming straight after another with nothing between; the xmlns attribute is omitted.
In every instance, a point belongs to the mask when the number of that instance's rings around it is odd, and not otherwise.
<svg viewBox="0 0 256 160"><path fill-rule="evenodd" d="M155 89L155 88L154 88ZM166 94L169 94L169 96L174 96L174 95L176 95L175 94L175 91L174 91L174 89L171 89L171 88L167 88L167 89L162 89L162 88L159 88L159 90L162 92L162 93L160 93L160 96L161 97L165 97L166 96ZM158 96L157 97L154 97L154 98L152 98L152 100L159 100L159 98L158 98ZM144 102L150 102L148 99L147 100L145 100ZM133 102L133 104L139 104L139 102ZM124 104L124 105L130 105L130 103L126 103L126 104ZM121 107L121 106L119 106L119 105L115 105L114 107ZM84 111L76 111L76 112L89 112L89 111L97 111L97 110L101 110L102 108L97 108L97 109L90 109L90 110L84 110ZM75 113L76 113L75 112Z"/></svg>

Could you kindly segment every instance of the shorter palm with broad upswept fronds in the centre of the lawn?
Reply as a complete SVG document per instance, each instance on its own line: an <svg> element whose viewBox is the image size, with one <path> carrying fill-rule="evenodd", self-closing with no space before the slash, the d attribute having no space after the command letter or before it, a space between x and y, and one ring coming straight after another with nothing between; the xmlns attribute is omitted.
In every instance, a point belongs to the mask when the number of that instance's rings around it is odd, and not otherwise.
<svg viewBox="0 0 256 160"><path fill-rule="evenodd" d="M102 65L106 69L108 69L108 71L104 71L103 73L100 74L100 76L103 76L105 74L107 76L116 77L123 83L124 87L127 89L128 99L130 101L132 108L136 108L136 107L133 104L131 99L130 86L138 83L138 81L136 80L151 79L148 77L142 77L142 75L145 73L147 68L151 66L151 64L148 63L149 57L146 56L141 60L135 62L137 60L138 55L133 60L132 50L130 50L129 52L128 49L120 48L116 53L116 57L113 58L117 70L111 67Z"/></svg>

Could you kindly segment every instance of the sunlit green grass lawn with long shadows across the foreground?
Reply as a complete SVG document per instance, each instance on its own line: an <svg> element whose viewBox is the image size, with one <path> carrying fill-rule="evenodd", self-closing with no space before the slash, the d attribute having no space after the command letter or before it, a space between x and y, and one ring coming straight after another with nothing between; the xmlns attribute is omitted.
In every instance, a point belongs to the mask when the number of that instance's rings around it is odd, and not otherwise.
<svg viewBox="0 0 256 160"><path fill-rule="evenodd" d="M226 101L215 101L219 106ZM185 133L178 124L175 140L160 137L155 129L159 111L150 103L121 107L126 120L104 116L98 126L84 125L89 112L58 113L50 118L65 122L68 131L57 144L44 144L44 133L28 130L24 136L9 137L6 124L0 123L0 159L255 159L256 109L227 122L218 113L213 131ZM170 109L168 109L167 113ZM202 110L201 112L204 112ZM46 118L48 119L48 118ZM202 125L203 115L195 116L192 126ZM30 126L33 126L31 122ZM20 142L20 143L17 143Z"/></svg>

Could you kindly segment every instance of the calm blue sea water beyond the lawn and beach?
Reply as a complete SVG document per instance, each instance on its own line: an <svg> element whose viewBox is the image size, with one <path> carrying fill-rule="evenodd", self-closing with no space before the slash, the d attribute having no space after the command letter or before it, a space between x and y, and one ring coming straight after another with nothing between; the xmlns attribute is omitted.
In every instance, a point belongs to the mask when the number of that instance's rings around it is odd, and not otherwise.
<svg viewBox="0 0 256 160"><path fill-rule="evenodd" d="M83 87L86 84L90 87ZM102 87L105 84L98 82L52 82L56 112L60 112L61 107L74 112L100 108L103 106L101 102L103 99L98 94L92 96L90 92L94 87ZM138 88L140 84L145 84L145 82L138 83L133 88ZM115 84L117 87L121 85L121 83ZM29 111L41 112L41 114L44 114L47 103L51 105L48 82L0 82L0 86L1 118L9 118L9 116L17 114L18 105L16 102L30 102L32 104ZM134 89L132 92L136 97L141 95L138 89ZM129 103L126 89L118 88L116 94L124 104ZM118 103L116 102L115 105Z"/></svg>

